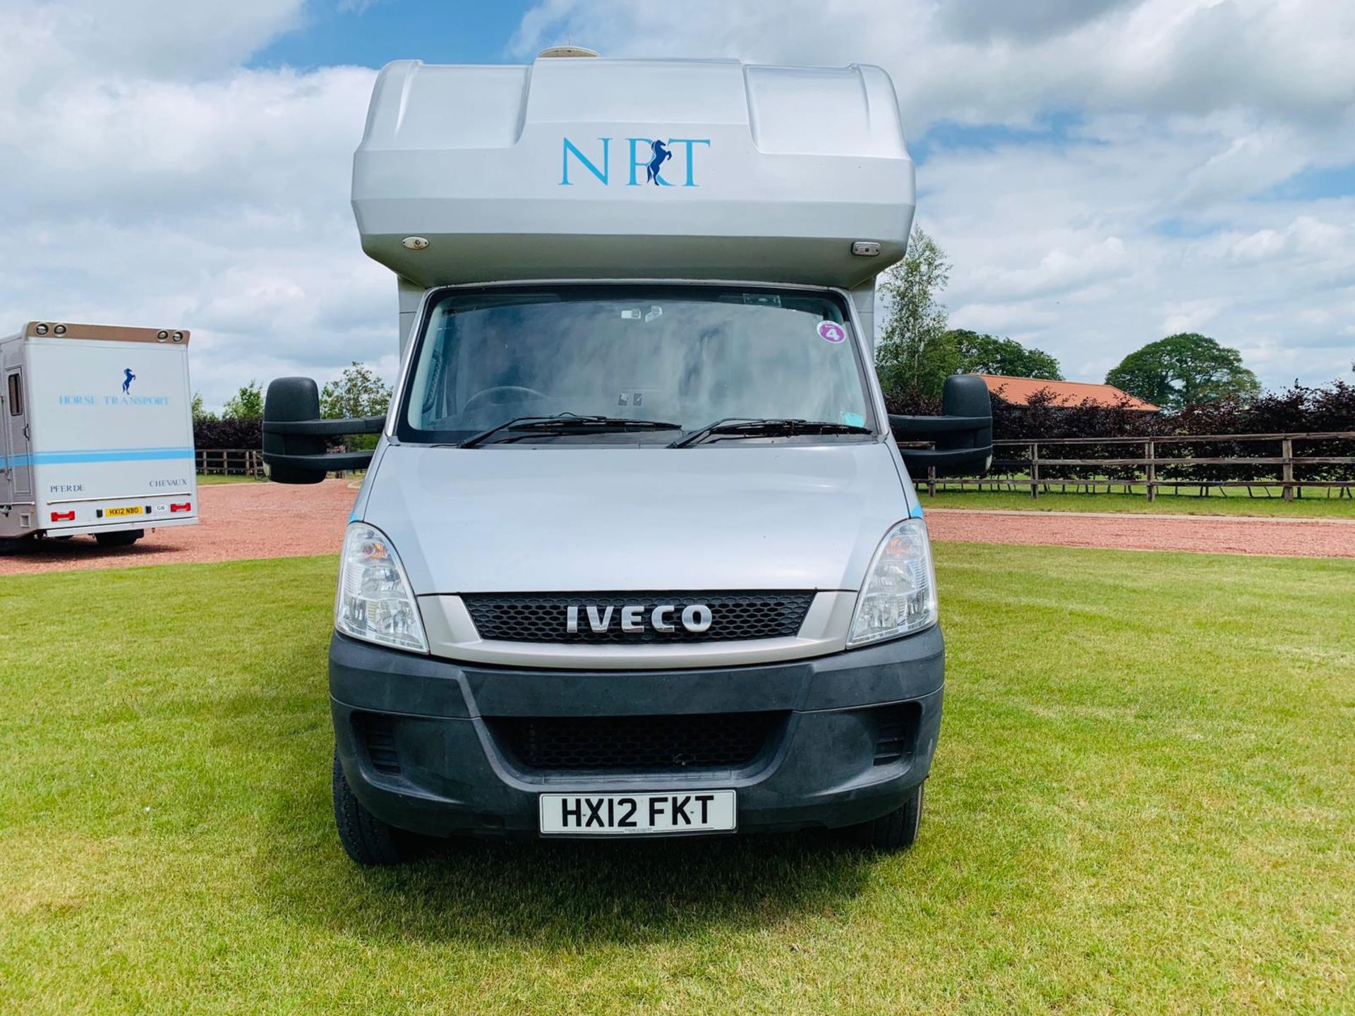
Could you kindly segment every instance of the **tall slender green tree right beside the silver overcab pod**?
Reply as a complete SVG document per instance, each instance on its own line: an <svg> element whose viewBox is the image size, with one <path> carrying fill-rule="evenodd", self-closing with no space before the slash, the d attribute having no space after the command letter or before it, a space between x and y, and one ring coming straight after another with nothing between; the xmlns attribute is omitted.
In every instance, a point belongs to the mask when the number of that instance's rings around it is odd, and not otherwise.
<svg viewBox="0 0 1355 1016"><path fill-rule="evenodd" d="M875 347L875 370L886 394L935 396L946 375L959 370L954 344L942 341L946 306L938 297L948 280L946 252L915 226L904 260L879 284L889 317Z"/></svg>

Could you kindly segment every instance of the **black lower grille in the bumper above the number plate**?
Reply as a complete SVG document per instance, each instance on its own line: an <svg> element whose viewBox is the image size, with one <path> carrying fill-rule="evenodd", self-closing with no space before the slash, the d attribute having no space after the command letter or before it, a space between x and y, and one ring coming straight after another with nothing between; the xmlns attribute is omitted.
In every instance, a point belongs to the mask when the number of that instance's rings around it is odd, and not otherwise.
<svg viewBox="0 0 1355 1016"><path fill-rule="evenodd" d="M489 727L519 765L546 771L737 769L780 729L785 713L680 717L499 718Z"/></svg>

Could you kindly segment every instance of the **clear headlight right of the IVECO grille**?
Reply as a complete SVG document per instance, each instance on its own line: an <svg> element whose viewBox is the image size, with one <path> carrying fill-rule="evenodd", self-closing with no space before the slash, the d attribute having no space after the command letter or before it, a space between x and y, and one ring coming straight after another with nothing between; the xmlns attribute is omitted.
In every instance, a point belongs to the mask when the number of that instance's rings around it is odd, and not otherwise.
<svg viewBox="0 0 1355 1016"><path fill-rule="evenodd" d="M856 597L848 646L921 631L936 623L936 572L921 519L885 534Z"/></svg>

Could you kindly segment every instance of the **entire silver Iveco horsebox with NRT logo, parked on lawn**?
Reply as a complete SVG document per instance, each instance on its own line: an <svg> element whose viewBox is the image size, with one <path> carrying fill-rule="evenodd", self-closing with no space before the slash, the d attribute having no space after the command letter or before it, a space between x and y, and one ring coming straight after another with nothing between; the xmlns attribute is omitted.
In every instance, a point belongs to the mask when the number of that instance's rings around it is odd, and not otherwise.
<svg viewBox="0 0 1355 1016"><path fill-rule="evenodd" d="M354 163L398 276L389 416L275 381L274 480L370 467L329 652L335 817L427 836L917 832L942 637L906 465L984 467L986 389L889 417L877 274L913 164L873 66L382 70ZM374 452L327 436L378 432ZM905 444L925 450L900 452Z"/></svg>

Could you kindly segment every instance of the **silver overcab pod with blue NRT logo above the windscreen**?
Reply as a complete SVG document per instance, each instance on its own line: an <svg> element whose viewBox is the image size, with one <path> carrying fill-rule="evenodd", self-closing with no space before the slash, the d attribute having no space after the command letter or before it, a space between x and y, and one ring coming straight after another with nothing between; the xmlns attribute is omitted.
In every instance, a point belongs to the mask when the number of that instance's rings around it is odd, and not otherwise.
<svg viewBox="0 0 1355 1016"><path fill-rule="evenodd" d="M377 80L352 205L404 280L402 337L431 286L534 278L840 286L869 314L913 164L875 66L404 61Z"/></svg>

